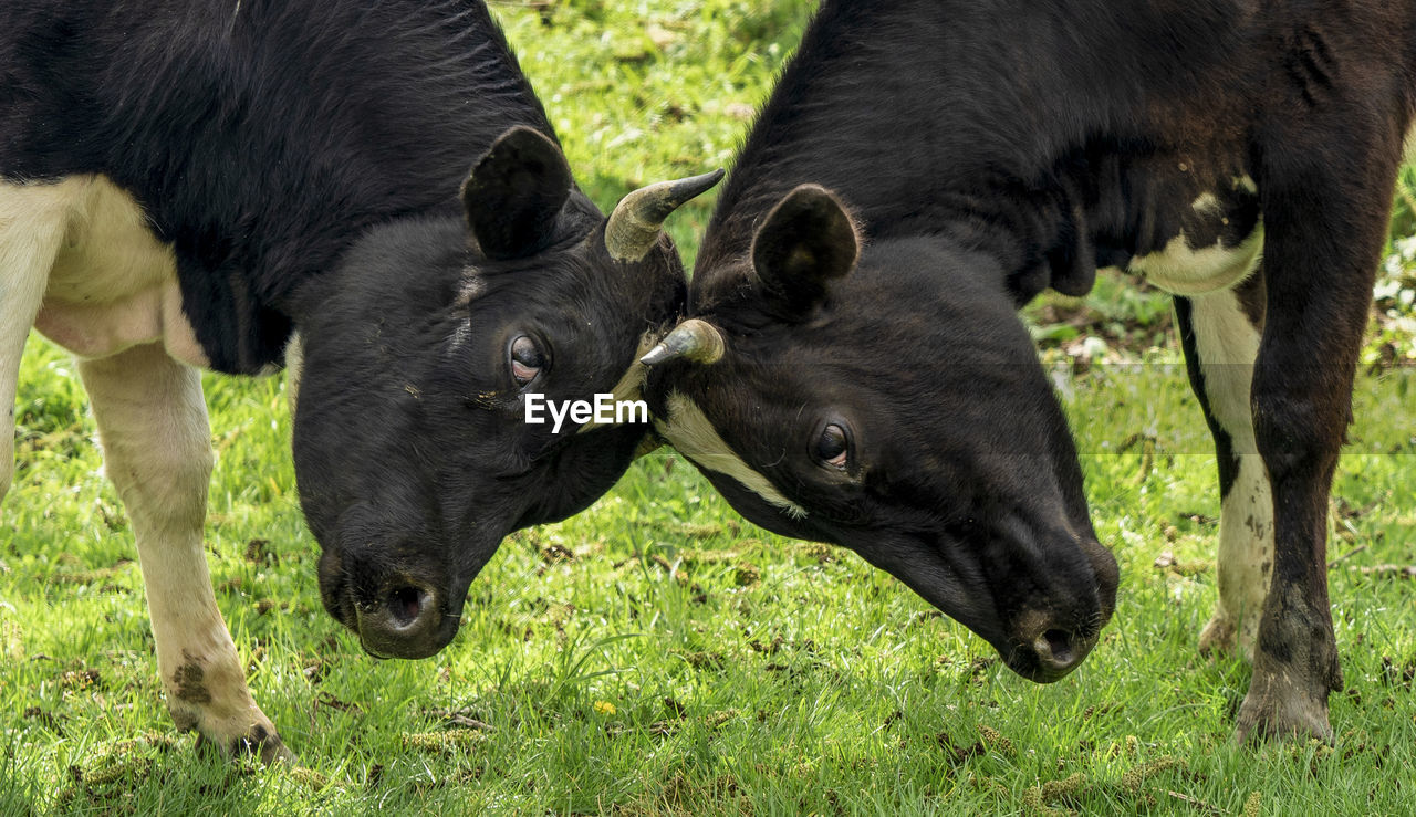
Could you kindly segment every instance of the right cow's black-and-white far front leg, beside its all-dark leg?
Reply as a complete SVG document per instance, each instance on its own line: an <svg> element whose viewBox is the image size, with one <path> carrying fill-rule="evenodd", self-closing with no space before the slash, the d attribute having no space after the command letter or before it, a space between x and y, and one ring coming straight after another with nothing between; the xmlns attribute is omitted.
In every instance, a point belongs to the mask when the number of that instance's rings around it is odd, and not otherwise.
<svg viewBox="0 0 1416 817"><path fill-rule="evenodd" d="M1238 649L1246 661L1253 661L1273 571L1273 497L1249 395L1263 309L1262 273L1232 290L1175 299L1189 384L1219 460L1219 602L1199 634L1199 650Z"/></svg>

